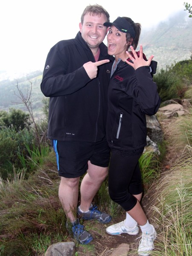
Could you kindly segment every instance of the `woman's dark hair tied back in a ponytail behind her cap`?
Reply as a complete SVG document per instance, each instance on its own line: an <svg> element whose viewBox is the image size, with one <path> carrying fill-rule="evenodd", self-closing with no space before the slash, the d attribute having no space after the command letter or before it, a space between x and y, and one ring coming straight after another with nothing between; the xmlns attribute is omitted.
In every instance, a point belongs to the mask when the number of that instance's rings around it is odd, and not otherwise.
<svg viewBox="0 0 192 256"><path fill-rule="evenodd" d="M125 20L127 20L131 26L133 27L134 31L135 31L135 38L132 38L131 35L129 33L126 33L126 39L127 39L127 43L128 43L128 47L127 47L127 51L128 48L132 45L132 47L134 47L134 49L137 48L137 44L139 42L140 39L140 33L141 33L141 24L140 23L134 23L133 20L131 20L131 18L128 17L122 17Z"/></svg>

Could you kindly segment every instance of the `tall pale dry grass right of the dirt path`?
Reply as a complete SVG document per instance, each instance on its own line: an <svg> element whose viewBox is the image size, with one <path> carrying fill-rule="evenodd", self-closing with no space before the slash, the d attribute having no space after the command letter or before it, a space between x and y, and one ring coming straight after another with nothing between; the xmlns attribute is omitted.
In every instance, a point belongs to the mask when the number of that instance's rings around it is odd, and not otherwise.
<svg viewBox="0 0 192 256"><path fill-rule="evenodd" d="M172 165L153 184L152 207L148 214L159 228L155 250L151 255L192 255L191 123L189 111L185 116L174 119L164 130L166 136L172 134L166 140L172 149L167 157L173 156L174 161L169 160Z"/></svg>

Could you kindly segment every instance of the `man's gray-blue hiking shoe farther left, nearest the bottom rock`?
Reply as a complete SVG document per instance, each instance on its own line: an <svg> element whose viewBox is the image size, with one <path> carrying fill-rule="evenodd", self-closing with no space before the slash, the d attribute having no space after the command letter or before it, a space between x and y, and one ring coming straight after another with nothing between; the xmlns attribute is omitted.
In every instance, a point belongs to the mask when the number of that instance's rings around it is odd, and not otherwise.
<svg viewBox="0 0 192 256"><path fill-rule="evenodd" d="M84 226L79 223L78 218L73 223L66 224L66 226L67 229L72 231L74 239L76 239L76 241L78 241L80 244L88 244L93 240L91 234L84 230Z"/></svg>

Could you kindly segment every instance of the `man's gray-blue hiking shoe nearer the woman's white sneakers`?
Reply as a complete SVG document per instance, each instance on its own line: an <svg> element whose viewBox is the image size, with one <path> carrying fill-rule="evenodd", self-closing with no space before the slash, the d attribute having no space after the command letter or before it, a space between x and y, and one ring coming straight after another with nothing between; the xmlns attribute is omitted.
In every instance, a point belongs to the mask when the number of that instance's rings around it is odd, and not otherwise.
<svg viewBox="0 0 192 256"><path fill-rule="evenodd" d="M89 208L88 212L81 212L78 207L77 214L79 218L82 218L84 220L96 219L101 223L108 223L111 221L111 215L105 212L100 212L99 210L97 210L97 206L93 207L93 205Z"/></svg>

